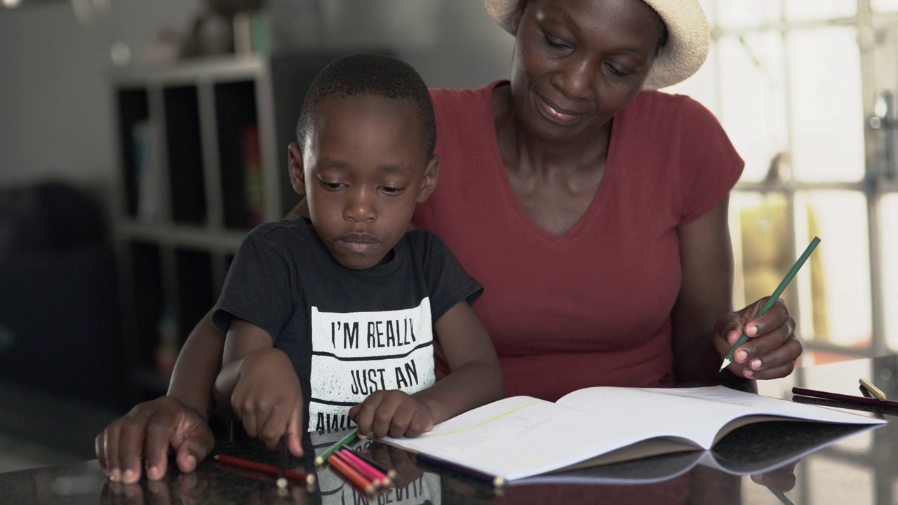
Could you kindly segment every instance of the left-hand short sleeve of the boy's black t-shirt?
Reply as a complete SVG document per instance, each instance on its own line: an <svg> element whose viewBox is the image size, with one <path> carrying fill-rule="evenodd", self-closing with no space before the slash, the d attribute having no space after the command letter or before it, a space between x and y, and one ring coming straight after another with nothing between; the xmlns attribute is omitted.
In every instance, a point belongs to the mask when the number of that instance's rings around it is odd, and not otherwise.
<svg viewBox="0 0 898 505"><path fill-rule="evenodd" d="M293 311L289 279L283 255L265 240L264 233L252 232L234 255L212 322L227 332L233 317L238 317L277 340Z"/></svg>

